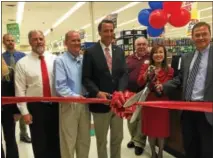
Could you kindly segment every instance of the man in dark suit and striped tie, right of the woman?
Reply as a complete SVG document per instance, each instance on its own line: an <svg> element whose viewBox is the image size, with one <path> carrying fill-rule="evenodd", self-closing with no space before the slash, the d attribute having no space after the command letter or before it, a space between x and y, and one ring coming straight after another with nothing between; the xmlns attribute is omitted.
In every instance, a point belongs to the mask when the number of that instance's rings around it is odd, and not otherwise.
<svg viewBox="0 0 213 158"><path fill-rule="evenodd" d="M174 89L182 88L184 101L213 102L213 48L209 24L197 23L192 29L192 40L196 51L182 57L179 75L163 87L157 86L157 89L168 95ZM182 112L181 125L186 158L213 157L212 115L213 113Z"/></svg>

